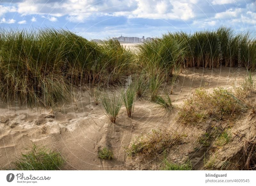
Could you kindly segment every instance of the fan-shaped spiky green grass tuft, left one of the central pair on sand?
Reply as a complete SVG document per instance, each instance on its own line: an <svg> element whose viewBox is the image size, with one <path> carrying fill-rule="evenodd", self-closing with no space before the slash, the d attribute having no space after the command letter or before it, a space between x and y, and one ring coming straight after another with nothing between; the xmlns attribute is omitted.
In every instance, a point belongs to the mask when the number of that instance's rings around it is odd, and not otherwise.
<svg viewBox="0 0 256 186"><path fill-rule="evenodd" d="M122 106L121 96L101 96L100 102L102 103L108 119L112 123L115 123L118 112L120 111Z"/></svg>

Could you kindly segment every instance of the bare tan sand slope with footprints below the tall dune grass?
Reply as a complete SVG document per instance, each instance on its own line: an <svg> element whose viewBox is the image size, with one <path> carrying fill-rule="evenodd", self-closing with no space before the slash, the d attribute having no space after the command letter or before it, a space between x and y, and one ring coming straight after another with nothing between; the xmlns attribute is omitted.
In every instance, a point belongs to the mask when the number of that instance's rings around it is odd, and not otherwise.
<svg viewBox="0 0 256 186"><path fill-rule="evenodd" d="M236 68L219 69L188 68L182 71L171 95L175 105L193 94L200 86L212 91L216 87L228 87L233 82L243 80L246 69L239 72ZM179 108L165 113L149 101L149 98L135 103L133 118L127 118L124 106L114 126L110 124L101 105L95 105L88 89L82 91L78 109L73 104L64 105L55 111L55 118L48 114L51 110L40 108L15 111L15 107L1 105L0 108L0 169L12 168L15 157L25 152L25 148L36 144L46 145L60 151L66 159L62 169L78 170L126 170L157 169L159 162L137 164L137 160L127 158L124 147L134 136L148 133L152 128L167 127L186 133L185 141L170 153L173 161L181 161L194 146L196 138L204 127L184 126L174 122ZM32 142L31 142L32 141ZM115 155L111 161L97 157L98 149L108 146ZM200 158L198 159L200 161ZM149 164L148 164L149 165Z"/></svg>

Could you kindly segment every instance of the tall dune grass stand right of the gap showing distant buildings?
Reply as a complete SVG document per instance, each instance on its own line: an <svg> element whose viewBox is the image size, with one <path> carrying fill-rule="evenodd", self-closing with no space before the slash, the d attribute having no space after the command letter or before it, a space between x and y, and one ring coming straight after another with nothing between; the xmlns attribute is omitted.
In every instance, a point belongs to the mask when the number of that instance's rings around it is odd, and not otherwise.
<svg viewBox="0 0 256 186"><path fill-rule="evenodd" d="M172 75L173 69L187 66L256 67L256 40L249 33L236 34L231 28L167 33L139 46L139 59L149 69Z"/></svg>

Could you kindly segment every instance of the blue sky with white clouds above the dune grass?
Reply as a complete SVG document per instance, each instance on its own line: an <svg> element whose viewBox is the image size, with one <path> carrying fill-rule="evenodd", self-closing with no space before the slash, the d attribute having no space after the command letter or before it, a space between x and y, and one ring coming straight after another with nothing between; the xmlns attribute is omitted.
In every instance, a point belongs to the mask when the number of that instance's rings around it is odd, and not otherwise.
<svg viewBox="0 0 256 186"><path fill-rule="evenodd" d="M255 34L255 0L0 0L1 28L66 28L87 39L222 25Z"/></svg>

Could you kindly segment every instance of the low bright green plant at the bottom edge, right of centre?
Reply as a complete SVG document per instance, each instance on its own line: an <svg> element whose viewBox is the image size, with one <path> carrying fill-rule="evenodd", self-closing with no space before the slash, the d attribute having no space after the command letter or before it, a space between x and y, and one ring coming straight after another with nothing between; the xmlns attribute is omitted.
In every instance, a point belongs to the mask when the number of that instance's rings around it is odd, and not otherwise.
<svg viewBox="0 0 256 186"><path fill-rule="evenodd" d="M188 160L184 164L176 164L169 162L166 158L163 161L163 167L161 170L192 170L192 164Z"/></svg>

